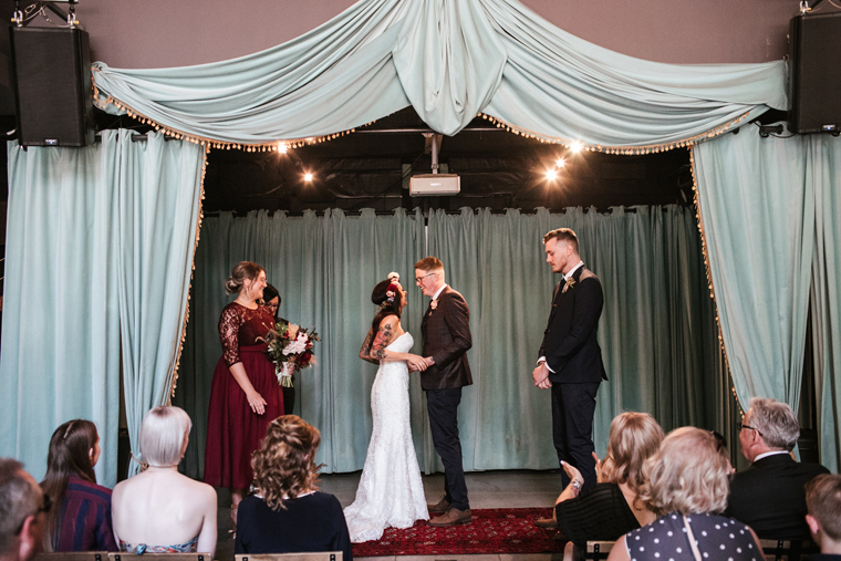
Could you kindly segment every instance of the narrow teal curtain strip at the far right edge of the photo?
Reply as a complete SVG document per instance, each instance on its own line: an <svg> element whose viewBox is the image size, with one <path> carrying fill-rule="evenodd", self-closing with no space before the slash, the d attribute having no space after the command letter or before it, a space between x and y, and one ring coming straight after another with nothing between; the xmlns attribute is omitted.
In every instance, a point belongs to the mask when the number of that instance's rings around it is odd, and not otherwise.
<svg viewBox="0 0 841 561"><path fill-rule="evenodd" d="M841 141L808 136L806 183L814 189L811 320L821 464L841 469Z"/></svg>

